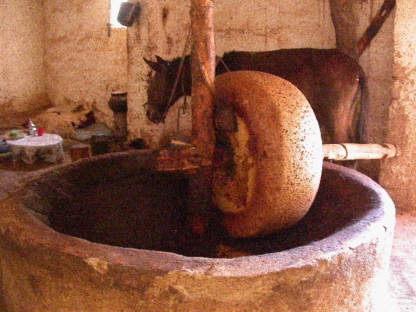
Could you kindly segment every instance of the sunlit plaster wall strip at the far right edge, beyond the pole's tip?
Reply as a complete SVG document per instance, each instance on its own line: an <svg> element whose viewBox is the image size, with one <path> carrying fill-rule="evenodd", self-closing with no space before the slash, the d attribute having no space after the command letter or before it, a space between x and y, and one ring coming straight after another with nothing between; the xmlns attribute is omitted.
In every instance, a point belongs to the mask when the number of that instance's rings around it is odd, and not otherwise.
<svg viewBox="0 0 416 312"><path fill-rule="evenodd" d="M389 109L388 140L402 155L384 160L380 184L398 212L416 209L416 7L412 0L396 4L394 19L393 102Z"/></svg>

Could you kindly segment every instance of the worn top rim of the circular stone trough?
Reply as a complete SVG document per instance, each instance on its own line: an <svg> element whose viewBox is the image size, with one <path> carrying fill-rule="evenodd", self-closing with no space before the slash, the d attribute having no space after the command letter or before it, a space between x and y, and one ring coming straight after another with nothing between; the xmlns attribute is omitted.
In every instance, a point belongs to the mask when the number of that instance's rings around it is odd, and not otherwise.
<svg viewBox="0 0 416 312"><path fill-rule="evenodd" d="M140 151L121 152L126 157L140 154ZM121 154L117 153L117 154ZM372 200L377 208L369 210L359 220L350 222L334 234L305 246L298 246L276 253L264 253L255 256L238 258L203 258L181 256L166 251L150 251L144 249L124 248L93 243L75 236L56 232L39 220L29 208L22 207L19 191L51 171L76 165L80 161L94 162L98 158L114 157L115 153L90 157L71 164L63 164L39 174L26 181L8 198L0 202L0 232L5 238L15 242L20 248L47 248L69 257L104 261L108 265L149 270L157 272L183 271L190 274L206 274L215 276L249 276L267 274L276 270L301 268L305 265L319 266L320 260L336 259L342 253L351 253L355 248L379 240L379 230L384 228L386 235L393 232L395 223L395 207L388 193L375 181L353 169L338 164L324 162L323 169L336 171L345 181L360 181L372 192ZM4 209L7 208L7 211Z"/></svg>

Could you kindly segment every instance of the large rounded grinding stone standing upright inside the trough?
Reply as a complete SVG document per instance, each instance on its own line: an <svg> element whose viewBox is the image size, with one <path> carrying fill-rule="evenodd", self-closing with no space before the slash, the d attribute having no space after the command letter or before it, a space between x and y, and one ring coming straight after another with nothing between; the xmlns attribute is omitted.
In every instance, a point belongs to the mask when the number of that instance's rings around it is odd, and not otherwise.
<svg viewBox="0 0 416 312"><path fill-rule="evenodd" d="M215 78L217 104L232 105L228 133L235 170L217 169L214 204L234 237L262 236L298 222L322 173L322 140L305 96L287 80L257 71Z"/></svg>

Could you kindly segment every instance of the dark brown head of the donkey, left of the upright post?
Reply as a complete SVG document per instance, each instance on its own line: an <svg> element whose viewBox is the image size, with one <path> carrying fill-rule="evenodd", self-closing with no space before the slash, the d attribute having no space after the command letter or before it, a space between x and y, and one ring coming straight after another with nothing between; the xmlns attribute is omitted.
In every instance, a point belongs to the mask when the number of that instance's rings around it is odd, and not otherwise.
<svg viewBox="0 0 416 312"><path fill-rule="evenodd" d="M165 61L156 56L157 61L143 58L147 65L154 70L154 76L149 80L147 88L147 118L154 124L164 121L169 108L190 90L189 60L185 59L180 68L181 59ZM181 70L180 70L181 69Z"/></svg>

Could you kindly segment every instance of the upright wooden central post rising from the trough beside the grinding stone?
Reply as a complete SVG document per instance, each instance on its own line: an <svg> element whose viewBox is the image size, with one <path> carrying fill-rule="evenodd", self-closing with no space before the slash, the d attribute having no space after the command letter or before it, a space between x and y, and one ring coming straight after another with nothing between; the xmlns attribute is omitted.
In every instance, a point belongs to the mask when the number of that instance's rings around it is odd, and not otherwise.
<svg viewBox="0 0 416 312"><path fill-rule="evenodd" d="M211 0L192 0L192 143L200 157L200 169L190 181L190 224L202 234L213 216L212 159L214 134L215 44L214 4Z"/></svg>

